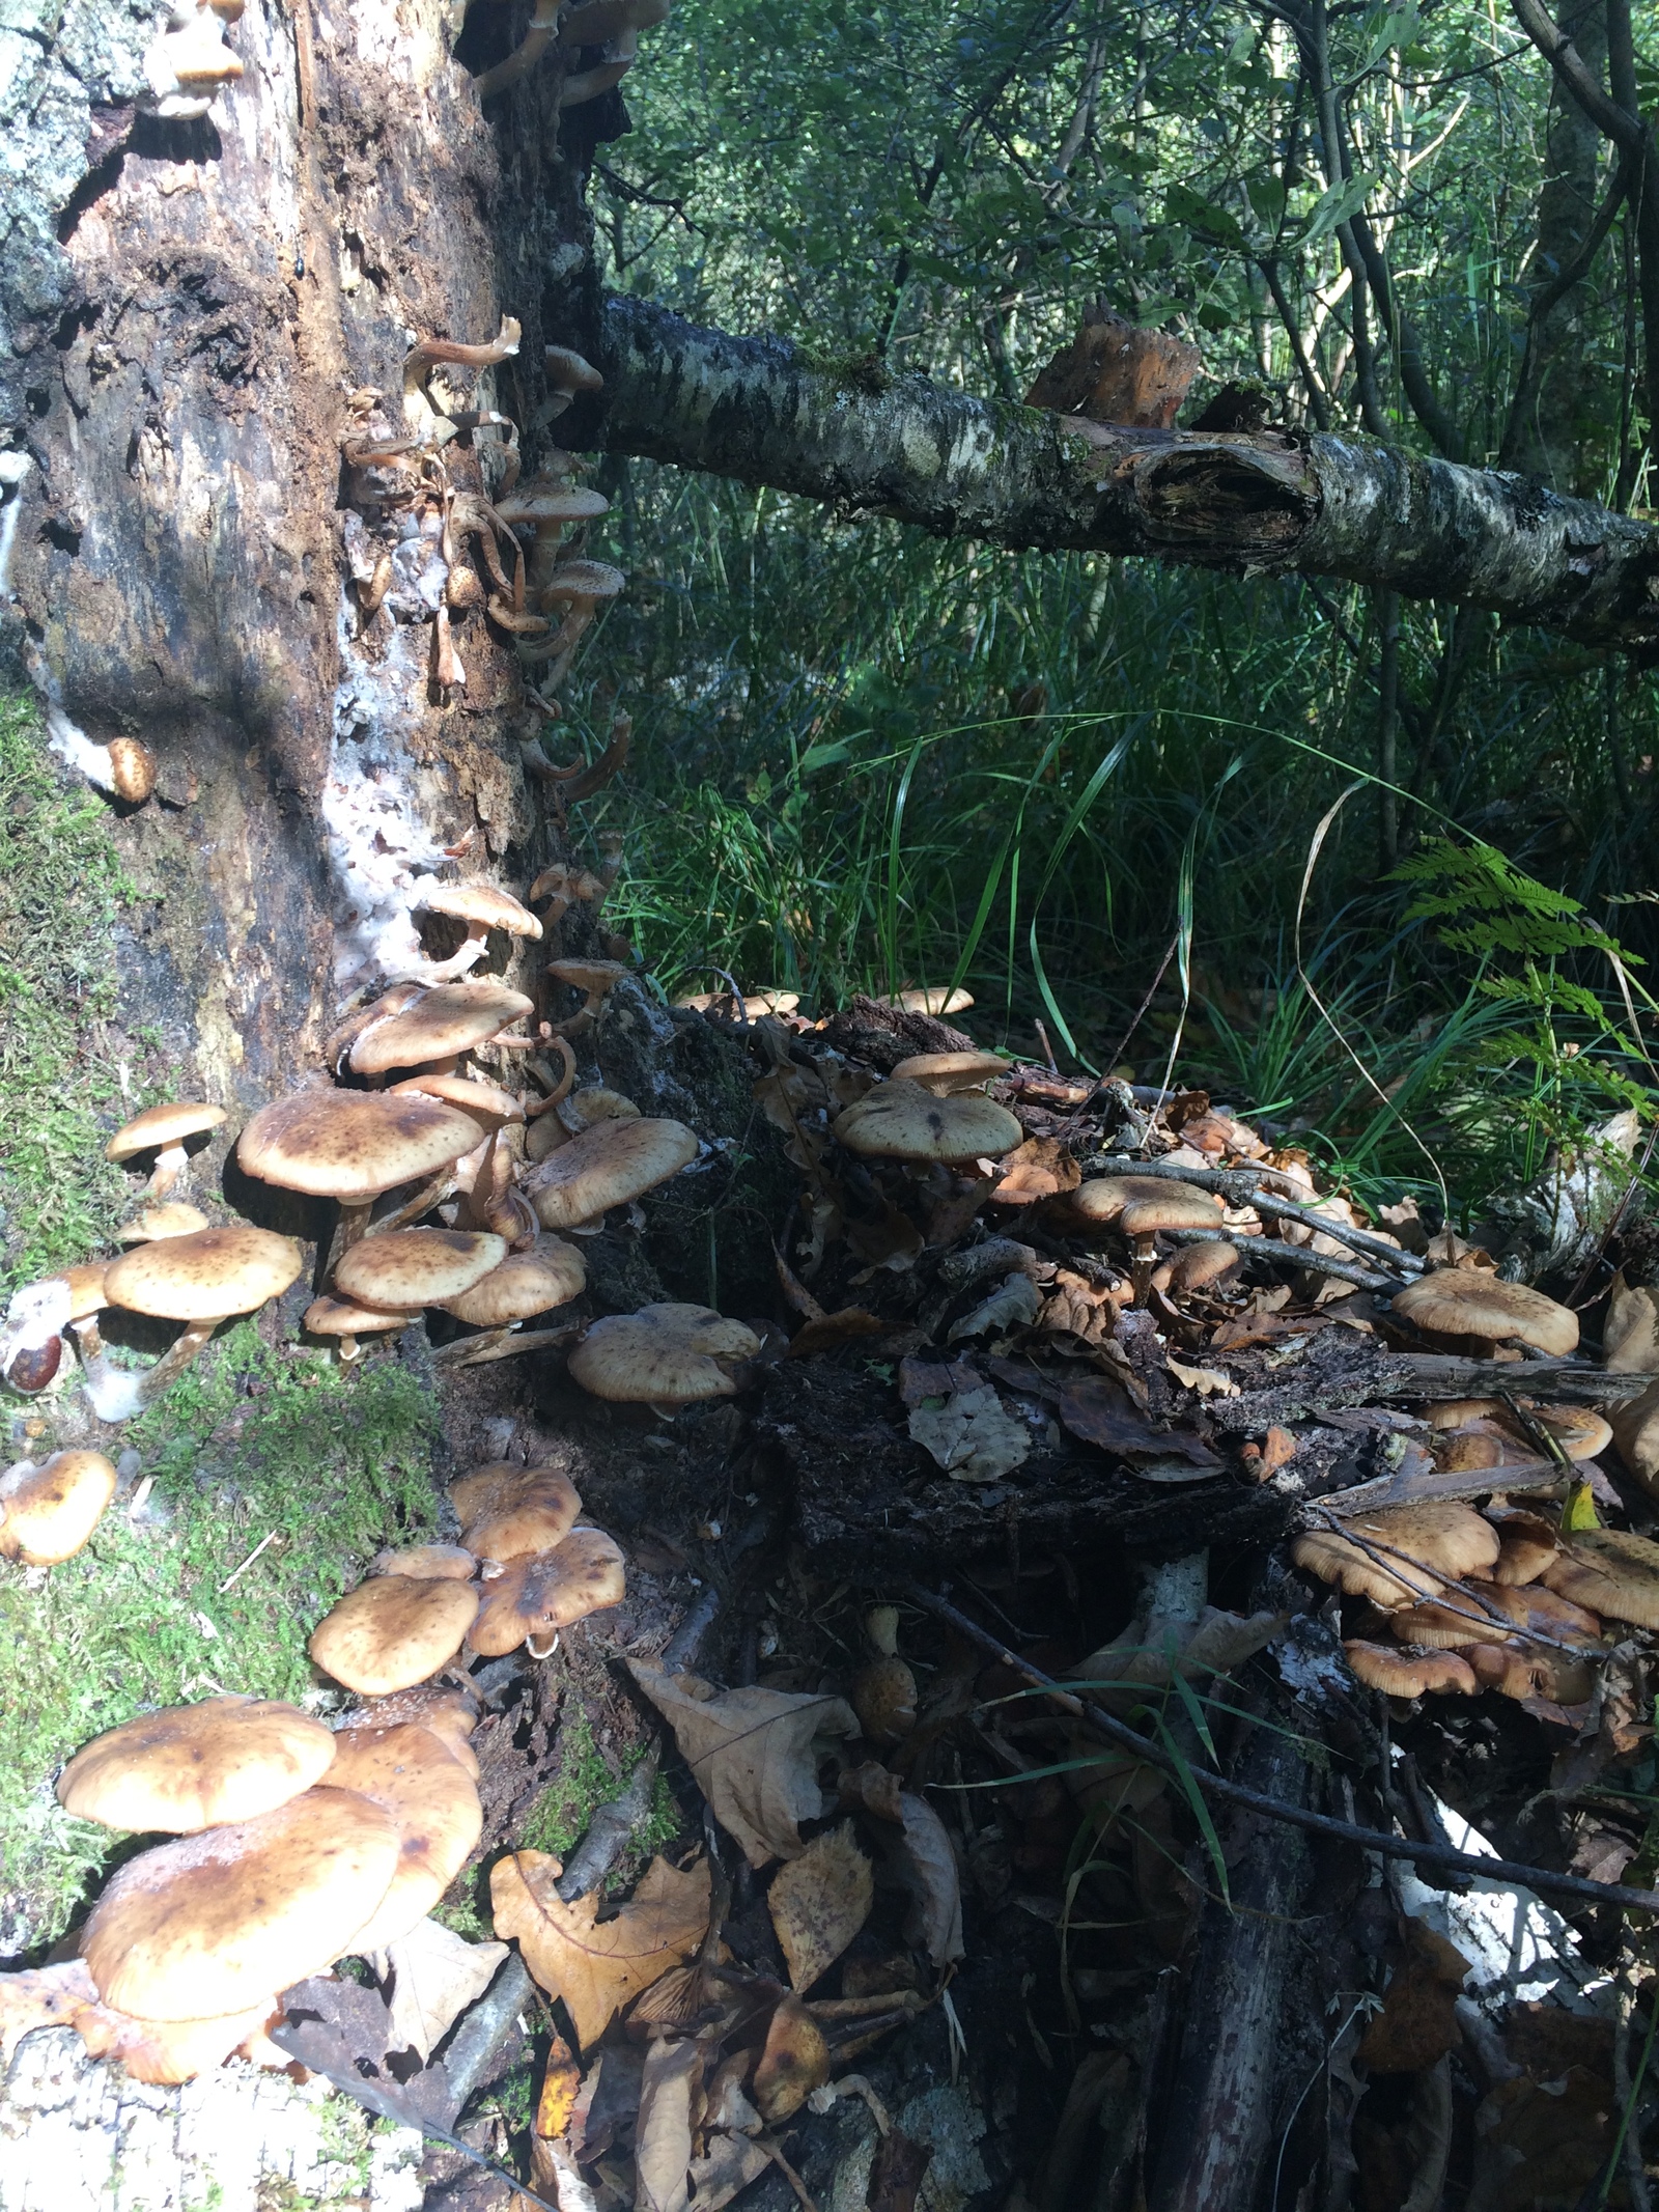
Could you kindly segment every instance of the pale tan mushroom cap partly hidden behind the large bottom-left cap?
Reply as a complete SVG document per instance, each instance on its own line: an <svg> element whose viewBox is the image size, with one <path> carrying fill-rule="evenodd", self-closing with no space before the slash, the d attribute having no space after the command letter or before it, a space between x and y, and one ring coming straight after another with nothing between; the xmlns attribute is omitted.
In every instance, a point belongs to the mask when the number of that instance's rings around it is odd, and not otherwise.
<svg viewBox="0 0 1659 2212"><path fill-rule="evenodd" d="M398 1829L398 1865L352 1949L385 1951L425 1920L467 1865L484 1827L478 1790L449 1747L418 1723L341 1730L330 1781L369 1798Z"/></svg>

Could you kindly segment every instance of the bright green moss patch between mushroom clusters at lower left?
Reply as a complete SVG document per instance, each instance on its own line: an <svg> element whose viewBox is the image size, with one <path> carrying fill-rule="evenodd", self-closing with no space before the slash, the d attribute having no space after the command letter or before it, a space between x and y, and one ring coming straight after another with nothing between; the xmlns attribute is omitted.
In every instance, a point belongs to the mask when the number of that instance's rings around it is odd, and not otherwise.
<svg viewBox="0 0 1659 2212"><path fill-rule="evenodd" d="M434 1425L394 1358L341 1371L243 1323L126 1431L146 1517L115 1506L64 1566L0 1568L0 1951L55 1938L115 1845L60 1809L58 1765L146 1705L303 1697L321 1615L434 1524Z"/></svg>

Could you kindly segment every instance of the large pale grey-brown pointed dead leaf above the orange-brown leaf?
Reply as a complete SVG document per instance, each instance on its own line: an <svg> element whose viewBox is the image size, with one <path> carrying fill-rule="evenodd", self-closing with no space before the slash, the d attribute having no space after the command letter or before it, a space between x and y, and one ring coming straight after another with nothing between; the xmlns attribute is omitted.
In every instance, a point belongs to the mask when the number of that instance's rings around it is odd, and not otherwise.
<svg viewBox="0 0 1659 2212"><path fill-rule="evenodd" d="M858 1714L843 1697L790 1690L723 1690L695 1674L628 1661L633 1679L675 1732L675 1743L719 1825L752 1867L799 1858L801 1820L818 1820L830 1801L818 1787L818 1761L838 1736L858 1734ZM703 1694L695 1694L695 1690ZM708 1869L703 1869L708 1885Z"/></svg>

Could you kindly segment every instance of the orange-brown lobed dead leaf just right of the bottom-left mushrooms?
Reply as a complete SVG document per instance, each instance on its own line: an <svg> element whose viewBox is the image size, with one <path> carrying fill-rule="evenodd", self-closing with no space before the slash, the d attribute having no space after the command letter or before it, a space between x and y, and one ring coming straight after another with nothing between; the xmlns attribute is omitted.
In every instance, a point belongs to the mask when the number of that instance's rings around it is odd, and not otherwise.
<svg viewBox="0 0 1659 2212"><path fill-rule="evenodd" d="M597 1893L566 1905L553 1887L562 1871L546 1851L513 1851L491 1869L489 1896L495 1933L518 1940L524 1964L549 1995L564 2000L588 2051L630 1997L699 1947L708 1931L710 1871L706 1858L690 1874L653 1858L613 1920L599 1920Z"/></svg>

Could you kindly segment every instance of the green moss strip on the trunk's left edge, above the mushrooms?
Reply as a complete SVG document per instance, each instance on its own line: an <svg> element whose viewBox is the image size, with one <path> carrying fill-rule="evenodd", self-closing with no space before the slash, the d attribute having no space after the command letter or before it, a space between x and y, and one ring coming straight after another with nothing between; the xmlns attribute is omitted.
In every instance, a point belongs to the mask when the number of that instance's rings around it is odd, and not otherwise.
<svg viewBox="0 0 1659 2212"><path fill-rule="evenodd" d="M27 701L0 701L0 1301L95 1250L122 1201L100 1126L122 1091L100 1029L131 898L108 807L64 787Z"/></svg>

